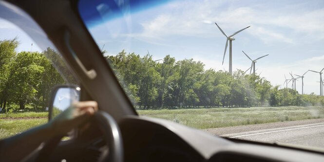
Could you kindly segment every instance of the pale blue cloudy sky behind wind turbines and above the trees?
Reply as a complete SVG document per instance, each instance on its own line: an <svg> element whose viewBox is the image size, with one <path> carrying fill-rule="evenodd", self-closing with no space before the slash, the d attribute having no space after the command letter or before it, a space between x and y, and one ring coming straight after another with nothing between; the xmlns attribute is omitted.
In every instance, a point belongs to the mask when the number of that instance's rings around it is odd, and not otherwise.
<svg viewBox="0 0 324 162"><path fill-rule="evenodd" d="M107 14L97 10L102 17ZM227 35L251 26L234 36L233 71L251 66L242 51L252 59L269 54L257 61L256 72L281 88L289 72L302 75L324 68L323 0L175 0L87 26L109 55L123 49L142 56L149 51L154 60L170 54L176 60L201 61L205 69L228 71L229 50L222 65L226 37L215 22ZM0 39L15 36L18 52L40 51L17 26L0 19ZM319 80L318 73L307 72L304 92L319 94ZM296 89L301 93L301 80Z"/></svg>

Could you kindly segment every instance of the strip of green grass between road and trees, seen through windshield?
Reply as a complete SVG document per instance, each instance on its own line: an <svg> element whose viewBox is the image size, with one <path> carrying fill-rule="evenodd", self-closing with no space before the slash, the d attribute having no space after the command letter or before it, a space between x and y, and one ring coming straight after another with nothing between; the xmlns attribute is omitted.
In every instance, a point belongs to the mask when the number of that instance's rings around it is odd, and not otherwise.
<svg viewBox="0 0 324 162"><path fill-rule="evenodd" d="M324 107L161 109L137 112L198 129L324 118Z"/></svg>

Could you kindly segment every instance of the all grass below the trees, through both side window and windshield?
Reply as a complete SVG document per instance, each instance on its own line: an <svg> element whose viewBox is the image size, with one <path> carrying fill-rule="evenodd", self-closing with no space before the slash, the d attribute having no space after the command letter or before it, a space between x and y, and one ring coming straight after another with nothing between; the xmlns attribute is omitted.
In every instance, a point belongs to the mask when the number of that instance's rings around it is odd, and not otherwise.
<svg viewBox="0 0 324 162"><path fill-rule="evenodd" d="M196 108L137 110L198 129L324 118L324 107ZM47 112L0 114L0 139L47 122Z"/></svg>

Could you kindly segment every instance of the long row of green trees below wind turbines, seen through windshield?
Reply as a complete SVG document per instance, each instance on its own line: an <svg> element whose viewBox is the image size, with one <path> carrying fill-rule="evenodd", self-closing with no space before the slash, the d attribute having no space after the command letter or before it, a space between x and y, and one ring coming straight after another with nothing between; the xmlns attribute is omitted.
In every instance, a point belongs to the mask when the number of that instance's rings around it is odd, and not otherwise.
<svg viewBox="0 0 324 162"><path fill-rule="evenodd" d="M273 87L259 75L236 71L204 70L193 59L176 61L167 55L162 63L147 54L105 56L121 85L138 108L307 106L323 104L323 97Z"/></svg>

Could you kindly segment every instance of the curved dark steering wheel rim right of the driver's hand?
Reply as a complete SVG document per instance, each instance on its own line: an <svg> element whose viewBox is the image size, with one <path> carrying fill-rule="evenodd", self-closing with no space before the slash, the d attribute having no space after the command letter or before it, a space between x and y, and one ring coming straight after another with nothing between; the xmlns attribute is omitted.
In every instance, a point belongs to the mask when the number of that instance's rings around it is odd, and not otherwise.
<svg viewBox="0 0 324 162"><path fill-rule="evenodd" d="M100 110L95 112L95 121L109 148L108 154L101 155L101 162L124 162L123 141L117 122L107 112Z"/></svg>

